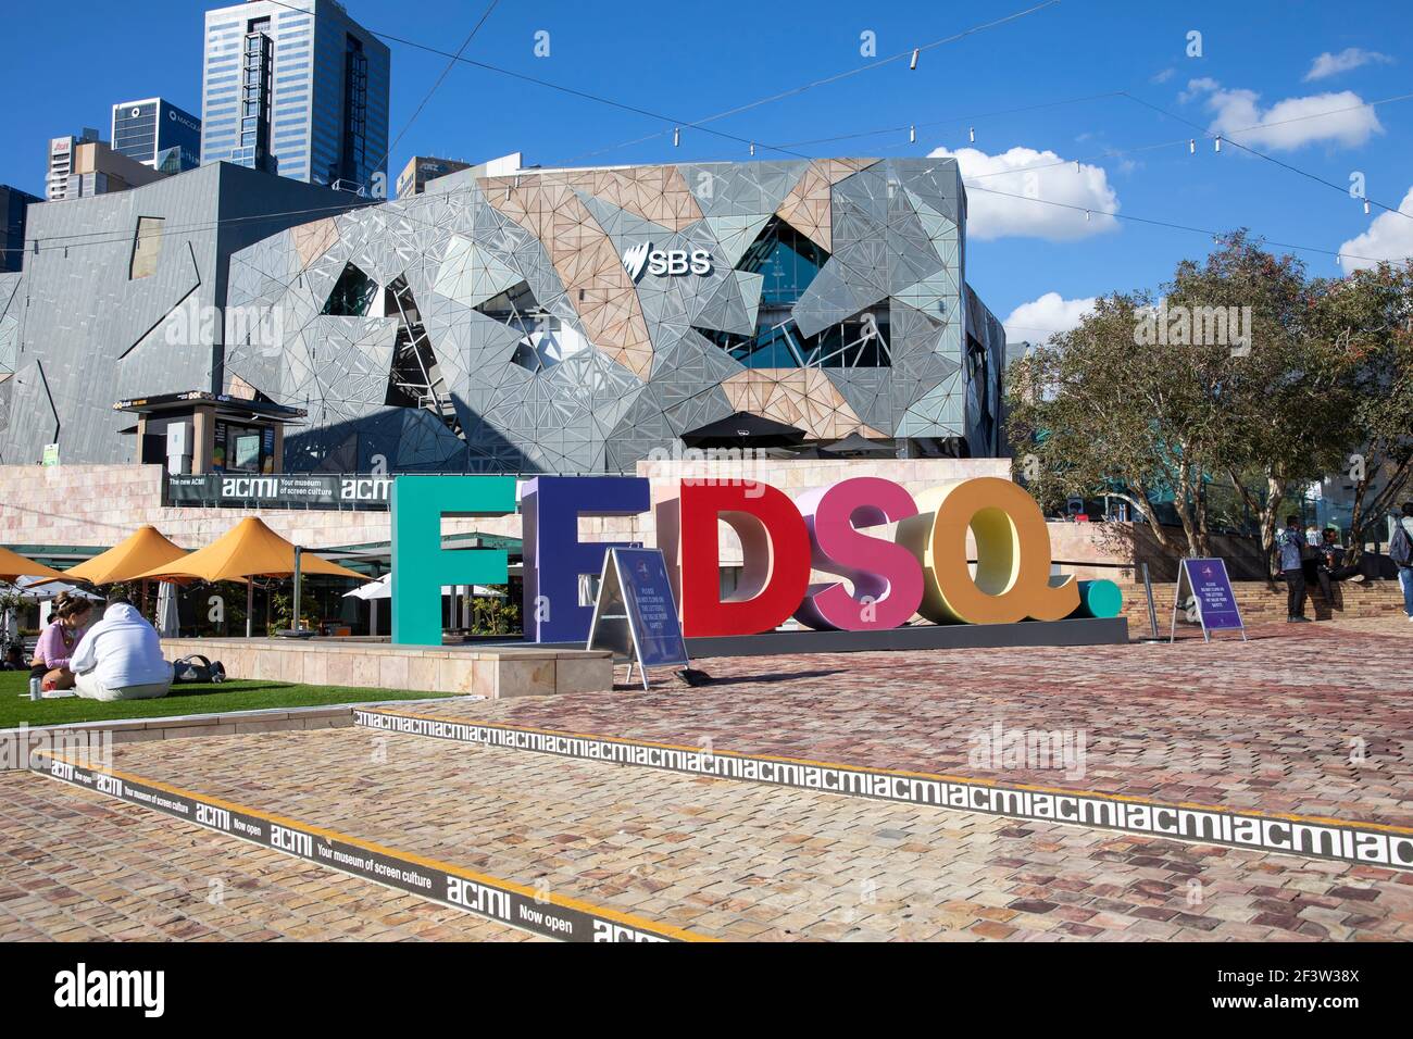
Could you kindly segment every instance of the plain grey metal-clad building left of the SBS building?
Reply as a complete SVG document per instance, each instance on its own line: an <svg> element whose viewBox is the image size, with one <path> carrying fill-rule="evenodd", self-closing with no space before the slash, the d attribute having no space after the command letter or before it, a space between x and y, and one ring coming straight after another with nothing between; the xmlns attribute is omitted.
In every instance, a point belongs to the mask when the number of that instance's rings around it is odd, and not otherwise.
<svg viewBox="0 0 1413 1039"><path fill-rule="evenodd" d="M219 163L31 205L24 270L0 274L0 462L38 462L49 444L65 462L134 461L123 435L131 416L113 403L219 392L227 318L250 338L227 307L232 254L311 212L359 204ZM273 335L264 342L280 349Z"/></svg>

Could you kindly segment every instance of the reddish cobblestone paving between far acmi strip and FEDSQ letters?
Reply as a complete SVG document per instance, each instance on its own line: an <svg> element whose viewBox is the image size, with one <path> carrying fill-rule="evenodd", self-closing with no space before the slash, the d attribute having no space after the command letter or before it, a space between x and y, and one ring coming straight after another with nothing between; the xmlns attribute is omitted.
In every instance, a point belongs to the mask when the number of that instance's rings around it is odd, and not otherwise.
<svg viewBox="0 0 1413 1039"><path fill-rule="evenodd" d="M1265 625L1177 645L726 657L697 688L393 710L718 751L1413 826L1406 621ZM623 671L620 670L619 674ZM982 769L978 736L1085 739L1082 775Z"/></svg>

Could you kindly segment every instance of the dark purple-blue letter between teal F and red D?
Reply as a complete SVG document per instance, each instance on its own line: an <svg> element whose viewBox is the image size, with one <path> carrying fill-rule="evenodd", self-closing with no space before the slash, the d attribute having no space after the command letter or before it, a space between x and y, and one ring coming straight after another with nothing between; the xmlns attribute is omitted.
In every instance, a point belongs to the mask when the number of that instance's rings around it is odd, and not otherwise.
<svg viewBox="0 0 1413 1039"><path fill-rule="evenodd" d="M520 498L524 517L524 623L534 642L589 638L593 605L579 604L579 577L603 571L610 547L629 541L581 541L581 516L647 512L651 485L642 476L537 476Z"/></svg>

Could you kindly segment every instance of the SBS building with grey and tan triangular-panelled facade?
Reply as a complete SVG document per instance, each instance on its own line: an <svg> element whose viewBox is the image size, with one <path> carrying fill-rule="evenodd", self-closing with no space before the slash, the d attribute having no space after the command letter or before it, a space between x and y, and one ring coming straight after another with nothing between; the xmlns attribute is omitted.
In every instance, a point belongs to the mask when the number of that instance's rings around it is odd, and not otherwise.
<svg viewBox="0 0 1413 1039"><path fill-rule="evenodd" d="M955 160L468 170L237 252L223 389L285 471L632 471L732 416L996 455L1005 334Z"/></svg>

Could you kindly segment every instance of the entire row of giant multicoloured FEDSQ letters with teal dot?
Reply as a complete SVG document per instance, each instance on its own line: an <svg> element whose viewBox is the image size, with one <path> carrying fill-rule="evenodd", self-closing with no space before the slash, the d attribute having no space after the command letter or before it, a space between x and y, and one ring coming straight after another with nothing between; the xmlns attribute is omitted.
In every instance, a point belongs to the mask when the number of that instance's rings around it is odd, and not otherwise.
<svg viewBox="0 0 1413 1039"><path fill-rule="evenodd" d="M656 505L687 638L756 635L797 618L817 630L880 630L916 614L934 623L1013 623L1118 616L1111 581L1051 581L1044 515L993 476L911 495L876 476L791 500L752 481L684 479ZM397 476L393 482L393 642L441 645L444 585L506 584L503 548L444 550L442 517L509 516L513 476ZM526 638L577 642L592 608L579 578L598 575L622 541L579 540L579 520L653 509L642 476L538 476L520 495ZM722 594L721 523L740 539L736 588ZM897 524L892 537L866 533ZM969 561L968 534L975 543ZM975 567L975 570L974 570ZM811 571L839 580L811 584ZM845 580L852 585L851 592Z"/></svg>

